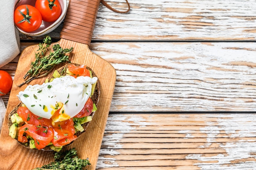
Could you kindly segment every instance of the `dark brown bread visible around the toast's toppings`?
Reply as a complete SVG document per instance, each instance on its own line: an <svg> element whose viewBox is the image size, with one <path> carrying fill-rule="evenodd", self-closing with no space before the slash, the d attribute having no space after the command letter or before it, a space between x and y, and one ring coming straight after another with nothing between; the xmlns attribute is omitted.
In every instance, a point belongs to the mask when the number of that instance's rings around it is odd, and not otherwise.
<svg viewBox="0 0 256 170"><path fill-rule="evenodd" d="M58 73L61 74L61 75L65 75L68 65L71 65L71 64L74 64L74 65L76 65L76 66L80 66L79 64L76 64L76 63L69 63L69 64L64 65L63 67L60 67L59 69L57 69ZM92 72L92 77L97 77L96 74L93 72L93 70L92 70L90 67L86 67L86 68ZM50 80L51 78L54 78L54 77L53 77L53 76L50 76L50 77L49 77L49 80ZM92 97L91 97L93 103L95 103L96 106L97 106L98 103L99 103L99 95L100 95L100 84L99 84L99 79L98 79L98 80L97 80L97 83L96 83L95 90L94 90L94 94L93 94ZM10 114L8 115L8 126L9 126L9 128L10 128L11 125L12 125L12 123L11 123L11 115L17 113L17 110L18 110L18 108L19 108L20 106L22 106L22 102L20 102L16 107L14 107L14 109L13 109L13 110L10 112ZM90 116L93 117L94 114L95 114L95 112L92 112L92 113L90 114ZM81 134L83 134L83 133L86 131L86 128L88 128L88 125L89 125L89 124L90 124L90 122L84 123L84 124L82 125L83 128L84 128L84 131L83 131L83 132L78 131L78 132L75 133L75 135L76 135L77 137L81 136ZM17 139L16 139L16 140L17 140ZM18 140L17 140L17 141L18 141ZM71 143L73 143L73 142L74 142L74 141L72 141ZM24 146L25 148L29 148L29 146L26 146L26 145L24 145L23 143L21 143L21 142L19 142L19 141L18 141L18 143L19 143L20 145ZM71 144L71 143L70 143L70 144ZM70 144L68 144L68 145L70 145ZM66 145L66 146L67 146L67 145ZM31 149L31 148L29 148L29 149ZM34 149L36 149L36 148L34 148ZM49 146L46 146L46 147L43 148L42 150L52 150L52 149L49 148Z"/></svg>

